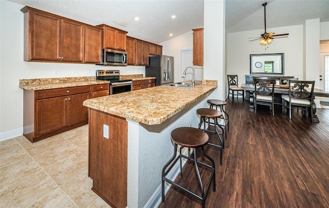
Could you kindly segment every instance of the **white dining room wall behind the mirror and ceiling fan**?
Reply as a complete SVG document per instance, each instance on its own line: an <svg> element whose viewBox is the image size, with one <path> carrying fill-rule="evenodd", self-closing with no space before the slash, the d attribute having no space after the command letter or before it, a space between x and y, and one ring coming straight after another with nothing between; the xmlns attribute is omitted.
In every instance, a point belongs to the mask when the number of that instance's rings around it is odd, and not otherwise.
<svg viewBox="0 0 329 208"><path fill-rule="evenodd" d="M259 36L263 30L228 33L227 74L238 74L239 85L245 83L245 74L250 74L250 54L284 53L284 74L303 78L303 25L268 28L267 31L289 35L277 37L267 48L259 41L249 42L248 39Z"/></svg>

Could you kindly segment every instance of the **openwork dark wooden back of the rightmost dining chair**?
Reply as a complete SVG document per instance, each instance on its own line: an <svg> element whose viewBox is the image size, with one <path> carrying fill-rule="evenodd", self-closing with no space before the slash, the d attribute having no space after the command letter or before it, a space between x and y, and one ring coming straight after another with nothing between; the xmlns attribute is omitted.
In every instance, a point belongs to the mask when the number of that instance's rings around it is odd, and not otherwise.
<svg viewBox="0 0 329 208"><path fill-rule="evenodd" d="M309 100L313 103L315 81L299 81L289 80L289 89L293 89L289 93L289 100L293 99L304 99Z"/></svg>

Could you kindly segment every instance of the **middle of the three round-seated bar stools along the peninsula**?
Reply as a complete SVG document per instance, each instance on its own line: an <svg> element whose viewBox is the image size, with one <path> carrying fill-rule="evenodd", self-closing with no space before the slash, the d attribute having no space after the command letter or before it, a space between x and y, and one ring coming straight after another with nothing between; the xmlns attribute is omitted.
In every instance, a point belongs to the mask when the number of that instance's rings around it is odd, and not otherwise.
<svg viewBox="0 0 329 208"><path fill-rule="evenodd" d="M221 142L221 145L212 144L212 143L208 143L208 145L214 146L214 147L217 147L217 148L221 148L221 165L222 165L222 163L223 163L224 140L222 139L221 135L224 135L224 129L220 124L218 124L218 120L217 120L218 118L223 118L222 112L219 111L219 110L211 109L211 108L199 108L199 109L196 110L196 114L200 116L200 123L199 123L199 126L197 127L198 129L201 129L205 132L217 134L218 139ZM208 119L208 127L209 127L210 124L213 124L214 128L215 128L215 131L206 129L207 119ZM211 123L210 119L213 119L214 122ZM202 124L204 124L204 128L201 128ZM217 127L219 127L222 130L222 133L218 132Z"/></svg>

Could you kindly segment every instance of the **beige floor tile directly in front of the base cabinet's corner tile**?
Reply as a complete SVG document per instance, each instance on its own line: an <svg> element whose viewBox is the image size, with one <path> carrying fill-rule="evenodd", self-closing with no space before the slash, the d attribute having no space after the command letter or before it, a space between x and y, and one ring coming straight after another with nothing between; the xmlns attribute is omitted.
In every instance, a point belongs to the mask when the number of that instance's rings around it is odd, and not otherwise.
<svg viewBox="0 0 329 208"><path fill-rule="evenodd" d="M65 159L72 154L75 154L77 150L78 147L76 145L65 141L47 149L46 151L37 153L32 157L41 167L44 168L48 165L58 162L59 160Z"/></svg>

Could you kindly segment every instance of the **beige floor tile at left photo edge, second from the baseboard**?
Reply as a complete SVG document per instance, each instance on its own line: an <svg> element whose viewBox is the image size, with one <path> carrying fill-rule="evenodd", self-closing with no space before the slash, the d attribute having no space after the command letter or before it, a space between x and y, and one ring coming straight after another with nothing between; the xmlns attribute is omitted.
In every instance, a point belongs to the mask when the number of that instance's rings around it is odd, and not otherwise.
<svg viewBox="0 0 329 208"><path fill-rule="evenodd" d="M21 146L11 148L0 154L0 167L17 162L26 157L29 157L29 154L27 154L27 152Z"/></svg>

